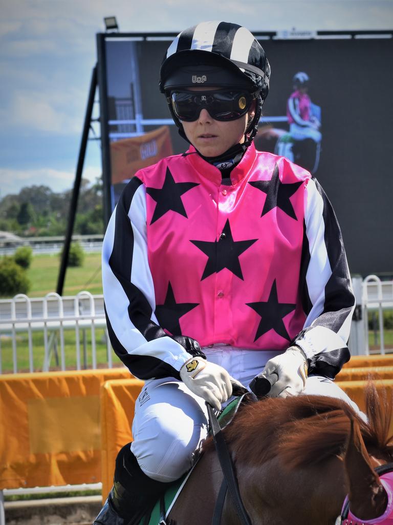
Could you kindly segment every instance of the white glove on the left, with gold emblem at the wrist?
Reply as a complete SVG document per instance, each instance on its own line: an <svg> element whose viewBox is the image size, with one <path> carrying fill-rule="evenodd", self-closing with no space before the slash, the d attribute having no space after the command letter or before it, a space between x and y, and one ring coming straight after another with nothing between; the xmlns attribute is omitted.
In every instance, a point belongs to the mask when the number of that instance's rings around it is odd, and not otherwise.
<svg viewBox="0 0 393 525"><path fill-rule="evenodd" d="M216 410L221 410L221 403L232 395L231 376L222 366L205 359L189 359L181 367L180 377L191 392Z"/></svg>

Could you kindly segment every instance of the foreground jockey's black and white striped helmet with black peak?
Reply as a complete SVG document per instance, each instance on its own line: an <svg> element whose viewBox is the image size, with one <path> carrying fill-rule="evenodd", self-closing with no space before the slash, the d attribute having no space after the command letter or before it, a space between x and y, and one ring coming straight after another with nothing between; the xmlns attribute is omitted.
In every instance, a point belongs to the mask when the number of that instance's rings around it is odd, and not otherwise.
<svg viewBox="0 0 393 525"><path fill-rule="evenodd" d="M269 79L269 62L254 35L237 24L215 21L184 29L173 40L162 61L159 86L162 93L192 85L257 92L259 104L247 130L252 132L252 140L269 92ZM183 135L181 123L171 113Z"/></svg>

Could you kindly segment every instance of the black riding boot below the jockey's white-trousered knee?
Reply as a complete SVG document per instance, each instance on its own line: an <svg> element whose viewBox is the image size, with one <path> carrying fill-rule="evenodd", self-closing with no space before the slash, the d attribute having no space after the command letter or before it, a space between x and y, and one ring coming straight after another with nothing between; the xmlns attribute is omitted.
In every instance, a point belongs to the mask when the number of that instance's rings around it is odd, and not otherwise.
<svg viewBox="0 0 393 525"><path fill-rule="evenodd" d="M117 455L113 487L93 525L137 525L167 487L144 474L128 443Z"/></svg>

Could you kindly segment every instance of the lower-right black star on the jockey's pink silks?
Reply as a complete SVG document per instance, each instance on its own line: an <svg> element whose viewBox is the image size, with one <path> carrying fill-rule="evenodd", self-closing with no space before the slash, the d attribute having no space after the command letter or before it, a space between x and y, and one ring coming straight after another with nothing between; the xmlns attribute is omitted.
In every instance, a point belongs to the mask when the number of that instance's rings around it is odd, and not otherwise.
<svg viewBox="0 0 393 525"><path fill-rule="evenodd" d="M261 317L254 341L271 329L275 330L284 339L290 341L291 338L288 335L282 318L289 312L292 312L296 308L296 304L278 302L276 280L271 286L269 299L267 301L249 302L246 304Z"/></svg>

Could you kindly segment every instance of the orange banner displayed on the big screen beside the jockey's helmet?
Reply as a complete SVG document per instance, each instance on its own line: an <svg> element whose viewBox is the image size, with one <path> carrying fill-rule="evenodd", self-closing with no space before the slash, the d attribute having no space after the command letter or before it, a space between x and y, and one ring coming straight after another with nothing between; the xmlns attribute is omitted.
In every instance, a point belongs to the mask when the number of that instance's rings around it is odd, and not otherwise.
<svg viewBox="0 0 393 525"><path fill-rule="evenodd" d="M168 126L162 126L140 137L112 142L112 184L126 181L141 168L155 164L172 154Z"/></svg>

